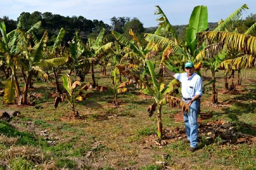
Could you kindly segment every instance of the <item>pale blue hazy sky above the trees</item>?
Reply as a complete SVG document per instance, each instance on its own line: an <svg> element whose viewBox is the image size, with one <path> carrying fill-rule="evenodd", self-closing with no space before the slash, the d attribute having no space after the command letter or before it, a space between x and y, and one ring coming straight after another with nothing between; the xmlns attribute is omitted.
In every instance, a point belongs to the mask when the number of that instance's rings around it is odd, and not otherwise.
<svg viewBox="0 0 256 170"><path fill-rule="evenodd" d="M17 20L22 12L31 14L38 11L64 17L81 15L88 20L102 20L109 25L112 17L137 17L147 28L158 24L158 15L154 15L157 5L172 25L183 25L189 23L195 6L207 6L208 22L218 22L244 4L249 9L243 11L243 19L251 13L256 14L256 0L1 0L0 17Z"/></svg>

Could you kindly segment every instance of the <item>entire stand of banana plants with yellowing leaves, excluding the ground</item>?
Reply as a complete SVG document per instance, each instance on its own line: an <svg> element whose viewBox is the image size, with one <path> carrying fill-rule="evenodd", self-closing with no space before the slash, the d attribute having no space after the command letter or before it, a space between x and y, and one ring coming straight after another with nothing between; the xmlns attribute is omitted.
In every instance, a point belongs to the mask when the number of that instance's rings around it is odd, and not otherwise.
<svg viewBox="0 0 256 170"><path fill-rule="evenodd" d="M112 31L116 38L114 42L107 42L104 37L105 29L102 28L96 39L87 39L87 43L81 40L78 33L69 42L69 47L61 46L65 30L60 29L53 46L47 46L49 39L47 31L41 39L36 37L36 32L41 26L39 21L28 31L23 31L22 20L19 20L17 29L6 33L4 22L0 24L2 38L0 40L1 68L4 77L8 78L4 88L4 104L28 104L27 95L29 87L33 86L34 77L48 81L51 70L55 79L56 93L62 94L58 82L60 70L68 70L67 76L62 76L63 86L67 92L56 98L55 107L58 102L67 99L72 105L72 116L78 117L75 109L76 100L84 100L86 94L84 89L88 85L75 90L81 86L79 81L72 84L70 75L75 75L84 81L84 76L91 72L91 86L98 86L95 80L94 67L101 66L102 74L106 75L106 66L112 66L113 92L115 94L114 104L118 105L117 94L125 92L125 86L135 84L143 93L153 95L155 103L150 106L151 114L158 110L158 121L161 118L161 106L169 102L172 106L184 106L182 101L175 98L178 93L178 82L170 82L168 85L163 78L163 67L159 74L154 72L157 65L164 65L174 72L182 72L183 65L187 61L195 63L195 70L200 74L200 68L209 69L212 74L212 102L218 102L215 90L215 73L225 70L226 90L234 90L234 73L238 72L238 84L241 84L241 69L250 69L255 66L256 37L252 36L256 31L254 23L244 34L236 33L230 29L230 25L239 19L241 12L248 9L244 4L227 19L219 23L211 32L204 32L208 27L208 12L206 6L196 6L191 14L189 25L186 28L186 40L183 41L172 25L169 23L163 11L157 6L155 12L158 15L159 27L154 34L145 34L146 46L140 43L132 29L129 34L132 40L128 40L122 34ZM161 58L159 62L157 58ZM17 71L23 76L24 88L20 90ZM230 86L228 85L228 73L231 73ZM121 75L127 78L123 84ZM151 77L151 80L148 78ZM149 83L151 82L151 83ZM151 84L151 85L150 85ZM152 86L153 85L153 86ZM184 109L184 108L183 108ZM161 138L162 132L159 131Z"/></svg>

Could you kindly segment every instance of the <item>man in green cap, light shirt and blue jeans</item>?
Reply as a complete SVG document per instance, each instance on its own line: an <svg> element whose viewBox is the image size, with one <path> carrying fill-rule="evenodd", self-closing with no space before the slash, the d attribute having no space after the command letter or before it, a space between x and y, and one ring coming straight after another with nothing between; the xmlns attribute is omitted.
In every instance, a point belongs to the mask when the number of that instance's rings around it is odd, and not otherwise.
<svg viewBox="0 0 256 170"><path fill-rule="evenodd" d="M193 152L198 147L198 110L200 107L200 98L203 95L202 78L196 74L194 64L192 62L185 63L184 73L176 73L170 71L166 67L164 70L181 82L182 100L189 105L189 113L183 112L183 118L186 128L187 142L190 142L189 151Z"/></svg>

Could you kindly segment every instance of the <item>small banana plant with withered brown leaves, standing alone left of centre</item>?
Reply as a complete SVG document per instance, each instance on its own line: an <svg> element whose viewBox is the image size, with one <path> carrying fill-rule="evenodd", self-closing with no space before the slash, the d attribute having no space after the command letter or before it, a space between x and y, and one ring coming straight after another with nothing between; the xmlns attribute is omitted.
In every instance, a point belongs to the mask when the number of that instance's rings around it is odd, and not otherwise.
<svg viewBox="0 0 256 170"><path fill-rule="evenodd" d="M67 90L67 93L63 93L61 97L55 98L55 108L58 107L59 102L64 102L67 100L71 105L70 118L79 118L79 112L75 108L76 100L83 101L87 97L84 93L83 87L75 92L77 86L81 86L80 81L75 81L72 83L70 75L62 75L63 87Z"/></svg>

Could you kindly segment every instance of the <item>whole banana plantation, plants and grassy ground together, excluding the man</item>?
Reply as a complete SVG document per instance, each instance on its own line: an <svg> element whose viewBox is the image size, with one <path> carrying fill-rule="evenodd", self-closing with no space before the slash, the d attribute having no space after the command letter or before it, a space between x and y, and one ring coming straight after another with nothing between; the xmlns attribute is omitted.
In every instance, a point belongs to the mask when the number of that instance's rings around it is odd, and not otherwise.
<svg viewBox="0 0 256 170"><path fill-rule="evenodd" d="M207 32L207 7L196 6L183 38L157 6L159 27L143 42L133 29L131 40L113 30L109 42L102 28L86 41L76 32L68 46L64 28L38 38L40 21L24 31L20 19L11 32L1 22L0 169L253 169L255 78L242 78L255 71L256 23L234 27L246 9ZM180 82L164 70L183 72L187 61L204 80L195 154L170 108L189 109Z"/></svg>

